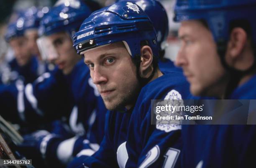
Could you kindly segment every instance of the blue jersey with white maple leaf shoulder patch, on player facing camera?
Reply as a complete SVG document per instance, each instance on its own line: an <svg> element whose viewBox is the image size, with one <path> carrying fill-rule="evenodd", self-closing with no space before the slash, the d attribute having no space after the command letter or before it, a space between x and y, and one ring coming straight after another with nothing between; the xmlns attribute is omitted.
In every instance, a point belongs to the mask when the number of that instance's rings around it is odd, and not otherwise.
<svg viewBox="0 0 256 168"><path fill-rule="evenodd" d="M180 126L151 125L151 99L188 99L188 90L189 84L180 72L164 74L146 84L141 89L133 109L107 113L105 137L100 149L84 160L84 166L138 167L156 145L160 146L161 154L166 152L166 145L161 145L164 138L173 137L173 147L180 150Z"/></svg>

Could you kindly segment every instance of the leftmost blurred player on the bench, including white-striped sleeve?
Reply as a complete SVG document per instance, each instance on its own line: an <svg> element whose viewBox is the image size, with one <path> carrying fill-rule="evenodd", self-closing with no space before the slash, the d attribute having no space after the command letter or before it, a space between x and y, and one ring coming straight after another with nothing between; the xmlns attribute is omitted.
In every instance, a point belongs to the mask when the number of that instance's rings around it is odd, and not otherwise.
<svg viewBox="0 0 256 168"><path fill-rule="evenodd" d="M19 122L19 118L12 117L13 112L17 114L17 109L19 112L20 110L23 111L23 109L20 109L23 105L19 103L23 99L19 98L22 97L24 85L35 81L45 71L45 68L41 68L38 59L30 53L28 39L24 35L27 28L25 25L27 25L25 14L20 14L18 20L9 24L5 33L5 40L9 41L16 57L10 61L3 74L1 74L3 82L0 85L1 115L5 116L5 119L11 119L15 122ZM17 101L18 103L15 103ZM31 118L33 118L33 115L31 115Z"/></svg>

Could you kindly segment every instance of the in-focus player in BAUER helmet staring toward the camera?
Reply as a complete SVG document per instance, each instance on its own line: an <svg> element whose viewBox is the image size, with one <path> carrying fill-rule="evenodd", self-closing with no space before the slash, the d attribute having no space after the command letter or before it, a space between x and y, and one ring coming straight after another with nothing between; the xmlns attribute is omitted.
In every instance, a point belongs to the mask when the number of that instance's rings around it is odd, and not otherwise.
<svg viewBox="0 0 256 168"><path fill-rule="evenodd" d="M156 150L161 148L159 155L166 152L161 138L172 139L173 148L179 151L180 126L151 125L151 99L181 102L189 97L188 84L179 72L162 74L159 70L156 33L146 13L131 2L115 3L92 13L73 37L74 46L84 54L92 80L110 110L100 149L84 160L84 166L133 167L136 160L126 165L130 155L150 152L155 145ZM131 127L133 123L139 124ZM134 127L138 130L133 131ZM129 138L131 134L136 139ZM130 148L127 144L131 143L142 146Z"/></svg>

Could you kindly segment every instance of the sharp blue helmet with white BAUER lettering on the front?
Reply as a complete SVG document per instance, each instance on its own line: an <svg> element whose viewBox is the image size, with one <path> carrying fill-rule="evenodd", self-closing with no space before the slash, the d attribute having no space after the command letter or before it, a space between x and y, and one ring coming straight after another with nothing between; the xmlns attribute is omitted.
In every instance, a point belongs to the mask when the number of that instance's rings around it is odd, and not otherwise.
<svg viewBox="0 0 256 168"><path fill-rule="evenodd" d="M74 34L77 53L123 41L128 53L134 57L141 55L141 42L146 41L154 56L159 56L156 31L150 19L131 2L119 2L92 13Z"/></svg>

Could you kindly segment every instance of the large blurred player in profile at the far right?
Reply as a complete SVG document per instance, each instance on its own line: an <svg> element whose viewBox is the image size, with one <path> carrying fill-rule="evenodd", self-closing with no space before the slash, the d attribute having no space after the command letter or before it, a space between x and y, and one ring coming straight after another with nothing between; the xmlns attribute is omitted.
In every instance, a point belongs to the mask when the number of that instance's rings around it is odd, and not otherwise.
<svg viewBox="0 0 256 168"><path fill-rule="evenodd" d="M255 14L255 0L177 0L182 45L176 64L192 94L256 99ZM255 132L254 125L184 126L182 167L255 167Z"/></svg>

